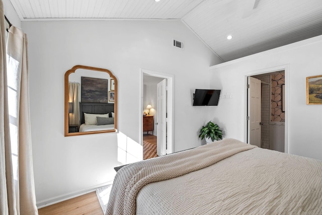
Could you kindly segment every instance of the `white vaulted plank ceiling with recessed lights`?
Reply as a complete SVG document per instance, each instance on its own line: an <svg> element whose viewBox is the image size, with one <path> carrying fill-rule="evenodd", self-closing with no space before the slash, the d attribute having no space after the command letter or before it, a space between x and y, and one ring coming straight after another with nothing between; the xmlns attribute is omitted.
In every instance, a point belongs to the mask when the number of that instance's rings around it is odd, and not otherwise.
<svg viewBox="0 0 322 215"><path fill-rule="evenodd" d="M322 0L11 0L22 21L177 19L223 61L322 35ZM233 38L227 40L227 35Z"/></svg>

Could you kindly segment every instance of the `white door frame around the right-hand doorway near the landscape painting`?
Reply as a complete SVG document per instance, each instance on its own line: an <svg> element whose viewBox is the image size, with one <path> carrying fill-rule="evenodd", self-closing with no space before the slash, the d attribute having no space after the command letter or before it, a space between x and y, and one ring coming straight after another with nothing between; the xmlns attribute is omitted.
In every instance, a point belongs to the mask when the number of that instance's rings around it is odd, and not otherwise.
<svg viewBox="0 0 322 215"><path fill-rule="evenodd" d="M255 75L262 75L262 74L267 74L267 73L274 73L275 71L280 71L284 70L285 71L285 139L284 139L284 152L289 153L289 88L290 88L290 72L289 72L289 64L284 64L284 65L279 65L279 66L274 66L274 67L269 67L269 68L264 68L264 69L259 69L259 70L253 70L253 71L247 71L243 73L244 75L244 90L246 95L245 99L245 142L248 143L248 122L247 122L247 115L248 115L248 90L247 90L247 84L248 84L248 77L249 76L255 76Z"/></svg>

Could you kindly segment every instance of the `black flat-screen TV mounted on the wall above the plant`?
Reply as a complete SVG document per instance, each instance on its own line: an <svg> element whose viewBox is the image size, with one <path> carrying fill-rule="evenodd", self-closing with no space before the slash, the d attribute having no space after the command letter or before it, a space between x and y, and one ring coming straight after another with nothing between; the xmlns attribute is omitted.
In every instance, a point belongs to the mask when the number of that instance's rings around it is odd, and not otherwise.
<svg viewBox="0 0 322 215"><path fill-rule="evenodd" d="M217 106L220 90L196 89L193 106Z"/></svg>

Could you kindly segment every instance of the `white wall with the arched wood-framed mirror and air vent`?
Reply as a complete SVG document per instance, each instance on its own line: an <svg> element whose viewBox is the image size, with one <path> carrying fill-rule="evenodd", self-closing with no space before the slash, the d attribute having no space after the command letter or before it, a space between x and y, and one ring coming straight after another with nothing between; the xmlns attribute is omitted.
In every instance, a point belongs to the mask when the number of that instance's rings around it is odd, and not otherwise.
<svg viewBox="0 0 322 215"><path fill-rule="evenodd" d="M180 21L29 21L30 107L38 205L113 180L118 146L136 147L140 68L174 75L175 151L201 145L198 131L212 108L191 105L191 91L209 87L220 60ZM172 39L185 49L172 47ZM118 79L118 133L64 137L64 73L76 64L107 68ZM132 145L126 145L131 143ZM130 160L127 160L129 162Z"/></svg>

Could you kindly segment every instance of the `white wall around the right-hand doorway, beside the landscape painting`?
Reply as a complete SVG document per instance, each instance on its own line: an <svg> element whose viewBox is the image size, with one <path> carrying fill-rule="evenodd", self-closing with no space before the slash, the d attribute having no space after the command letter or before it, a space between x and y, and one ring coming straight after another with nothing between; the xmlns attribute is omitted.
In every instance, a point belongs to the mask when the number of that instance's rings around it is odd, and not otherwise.
<svg viewBox="0 0 322 215"><path fill-rule="evenodd" d="M290 154L322 159L322 105L306 105L306 77L322 74L322 36L210 67L211 87L233 94L222 99L214 114L224 124L226 137L246 138L246 74L284 65L286 98L285 133Z"/></svg>

